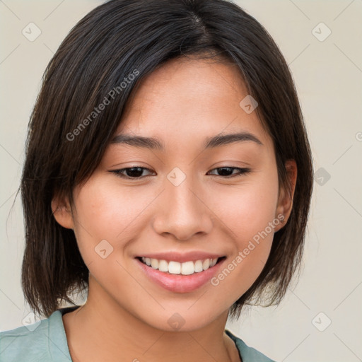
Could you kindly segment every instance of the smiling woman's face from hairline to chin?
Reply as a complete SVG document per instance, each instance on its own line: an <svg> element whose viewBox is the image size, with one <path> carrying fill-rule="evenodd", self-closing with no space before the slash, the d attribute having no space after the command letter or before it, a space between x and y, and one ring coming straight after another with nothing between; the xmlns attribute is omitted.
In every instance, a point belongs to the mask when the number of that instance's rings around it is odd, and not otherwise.
<svg viewBox="0 0 362 362"><path fill-rule="evenodd" d="M208 60L175 59L141 84L100 165L74 189L72 215L56 216L74 229L90 293L158 329L173 330L171 317L192 330L250 288L288 199L270 136L240 107L246 96L235 66ZM227 134L244 135L206 147Z"/></svg>

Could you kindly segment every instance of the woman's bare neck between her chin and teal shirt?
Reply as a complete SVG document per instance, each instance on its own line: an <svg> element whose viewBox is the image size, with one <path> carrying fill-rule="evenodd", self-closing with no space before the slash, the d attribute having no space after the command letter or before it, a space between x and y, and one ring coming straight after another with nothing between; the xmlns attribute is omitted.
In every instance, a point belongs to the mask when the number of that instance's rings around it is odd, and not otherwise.
<svg viewBox="0 0 362 362"><path fill-rule="evenodd" d="M115 300L100 298L99 291L94 298L93 283L90 278L86 304L63 316L74 362L240 361L234 342L224 332L228 310L202 328L165 331L148 325Z"/></svg>

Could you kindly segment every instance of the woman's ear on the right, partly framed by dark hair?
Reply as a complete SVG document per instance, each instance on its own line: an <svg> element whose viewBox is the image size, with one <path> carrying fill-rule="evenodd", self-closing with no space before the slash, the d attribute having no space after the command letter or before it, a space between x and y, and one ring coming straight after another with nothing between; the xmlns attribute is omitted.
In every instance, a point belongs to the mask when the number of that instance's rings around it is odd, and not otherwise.
<svg viewBox="0 0 362 362"><path fill-rule="evenodd" d="M289 216L291 215L291 210L293 209L293 196L294 196L294 191L296 189L296 181L297 181L297 164L295 160L287 160L285 166L286 166L287 177L291 184L291 190L289 193L288 190L286 190L284 187L281 187L280 189L275 217L280 219L280 215L283 215L284 221L283 223L279 223L279 225L275 226L274 233L283 228L283 226L288 221Z"/></svg>

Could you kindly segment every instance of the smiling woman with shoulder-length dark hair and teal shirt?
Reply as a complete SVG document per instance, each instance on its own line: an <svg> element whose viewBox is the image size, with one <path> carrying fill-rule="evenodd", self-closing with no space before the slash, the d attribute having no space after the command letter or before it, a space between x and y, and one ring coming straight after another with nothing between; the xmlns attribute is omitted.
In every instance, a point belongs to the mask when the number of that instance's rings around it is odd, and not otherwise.
<svg viewBox="0 0 362 362"><path fill-rule="evenodd" d="M30 119L22 286L46 319L1 332L1 361L271 361L225 326L284 297L312 187L290 71L252 16L98 6Z"/></svg>

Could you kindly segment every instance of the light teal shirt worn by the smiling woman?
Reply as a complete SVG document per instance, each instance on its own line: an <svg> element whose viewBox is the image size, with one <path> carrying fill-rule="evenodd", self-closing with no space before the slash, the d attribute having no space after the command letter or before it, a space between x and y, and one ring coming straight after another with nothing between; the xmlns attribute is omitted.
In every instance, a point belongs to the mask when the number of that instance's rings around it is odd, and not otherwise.
<svg viewBox="0 0 362 362"><path fill-rule="evenodd" d="M0 361L71 362L62 315L76 308L78 305L60 308L49 318L33 325L0 332ZM247 346L228 329L225 331L238 347L243 362L274 362L256 349Z"/></svg>

